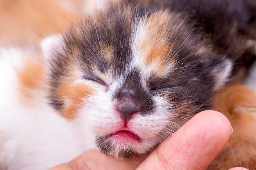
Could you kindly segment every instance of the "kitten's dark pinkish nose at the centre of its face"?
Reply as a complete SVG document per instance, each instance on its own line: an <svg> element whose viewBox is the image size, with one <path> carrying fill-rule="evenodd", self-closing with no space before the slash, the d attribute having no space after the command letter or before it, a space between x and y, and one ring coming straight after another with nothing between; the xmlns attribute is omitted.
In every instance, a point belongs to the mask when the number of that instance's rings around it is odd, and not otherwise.
<svg viewBox="0 0 256 170"><path fill-rule="evenodd" d="M128 122L132 115L139 111L137 102L130 97L125 97L119 100L116 109L125 122Z"/></svg>

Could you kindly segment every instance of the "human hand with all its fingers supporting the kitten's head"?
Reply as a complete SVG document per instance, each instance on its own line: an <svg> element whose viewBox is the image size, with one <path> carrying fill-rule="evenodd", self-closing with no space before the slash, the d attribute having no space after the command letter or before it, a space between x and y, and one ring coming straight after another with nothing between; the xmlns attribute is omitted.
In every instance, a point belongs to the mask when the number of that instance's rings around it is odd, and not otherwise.
<svg viewBox="0 0 256 170"><path fill-rule="evenodd" d="M119 160L90 150L50 170L203 170L222 150L232 132L222 113L206 110L195 115L148 157Z"/></svg>

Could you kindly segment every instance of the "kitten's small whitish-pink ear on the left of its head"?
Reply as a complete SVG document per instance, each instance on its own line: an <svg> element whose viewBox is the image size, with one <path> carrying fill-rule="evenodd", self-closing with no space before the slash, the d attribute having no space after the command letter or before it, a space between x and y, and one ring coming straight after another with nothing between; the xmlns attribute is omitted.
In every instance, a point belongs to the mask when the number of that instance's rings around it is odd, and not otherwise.
<svg viewBox="0 0 256 170"><path fill-rule="evenodd" d="M41 48L45 60L50 64L57 64L61 61L61 56L64 53L65 43L62 35L50 35L43 39Z"/></svg>

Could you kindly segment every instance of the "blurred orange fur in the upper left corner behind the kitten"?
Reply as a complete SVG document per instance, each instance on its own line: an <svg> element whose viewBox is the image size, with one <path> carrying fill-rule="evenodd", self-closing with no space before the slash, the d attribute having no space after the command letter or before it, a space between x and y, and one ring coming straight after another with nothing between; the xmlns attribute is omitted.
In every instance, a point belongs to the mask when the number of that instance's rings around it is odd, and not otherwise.
<svg viewBox="0 0 256 170"><path fill-rule="evenodd" d="M0 46L34 45L118 0L0 0Z"/></svg>

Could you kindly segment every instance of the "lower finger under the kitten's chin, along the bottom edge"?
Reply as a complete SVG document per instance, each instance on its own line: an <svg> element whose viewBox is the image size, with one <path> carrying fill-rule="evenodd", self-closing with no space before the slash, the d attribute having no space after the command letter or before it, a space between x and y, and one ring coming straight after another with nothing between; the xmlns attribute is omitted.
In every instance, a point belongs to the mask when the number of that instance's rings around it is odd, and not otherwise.
<svg viewBox="0 0 256 170"><path fill-rule="evenodd" d="M49 170L135 170L145 158L120 160L108 157L100 151L90 150L68 163Z"/></svg>

